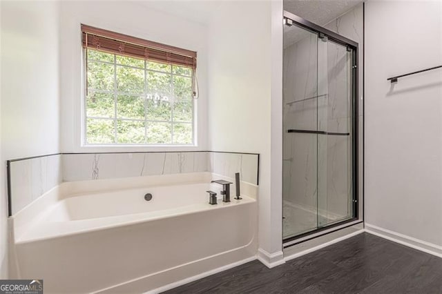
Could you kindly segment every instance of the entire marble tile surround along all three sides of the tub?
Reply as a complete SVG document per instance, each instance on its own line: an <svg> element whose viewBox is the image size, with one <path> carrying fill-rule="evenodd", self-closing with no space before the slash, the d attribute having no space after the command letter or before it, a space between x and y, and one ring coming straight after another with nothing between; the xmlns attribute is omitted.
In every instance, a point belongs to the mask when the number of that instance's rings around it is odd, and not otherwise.
<svg viewBox="0 0 442 294"><path fill-rule="evenodd" d="M9 215L61 182L177 173L211 172L258 185L259 155L213 151L165 153L78 153L45 155L8 162Z"/></svg>

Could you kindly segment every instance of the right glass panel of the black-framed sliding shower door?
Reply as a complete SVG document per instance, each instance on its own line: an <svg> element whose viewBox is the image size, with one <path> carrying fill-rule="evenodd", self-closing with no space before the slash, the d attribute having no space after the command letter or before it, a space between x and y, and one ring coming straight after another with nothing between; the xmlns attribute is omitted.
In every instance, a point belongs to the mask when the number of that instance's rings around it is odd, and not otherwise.
<svg viewBox="0 0 442 294"><path fill-rule="evenodd" d="M319 35L318 228L352 218L353 50Z"/></svg>

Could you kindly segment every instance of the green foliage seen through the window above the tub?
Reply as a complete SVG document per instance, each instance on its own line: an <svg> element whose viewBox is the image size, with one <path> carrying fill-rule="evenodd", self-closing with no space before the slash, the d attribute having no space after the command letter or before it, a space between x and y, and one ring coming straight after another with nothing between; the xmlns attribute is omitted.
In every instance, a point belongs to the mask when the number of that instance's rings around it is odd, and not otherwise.
<svg viewBox="0 0 442 294"><path fill-rule="evenodd" d="M87 144L193 144L192 69L87 50Z"/></svg>

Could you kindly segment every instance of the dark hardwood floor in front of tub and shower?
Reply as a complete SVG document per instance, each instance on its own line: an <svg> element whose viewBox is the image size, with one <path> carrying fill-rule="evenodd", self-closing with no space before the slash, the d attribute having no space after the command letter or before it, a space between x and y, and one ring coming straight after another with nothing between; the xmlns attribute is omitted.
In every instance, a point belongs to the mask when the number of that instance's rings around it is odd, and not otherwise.
<svg viewBox="0 0 442 294"><path fill-rule="evenodd" d="M442 293L442 259L362 233L275 268L256 260L166 293Z"/></svg>

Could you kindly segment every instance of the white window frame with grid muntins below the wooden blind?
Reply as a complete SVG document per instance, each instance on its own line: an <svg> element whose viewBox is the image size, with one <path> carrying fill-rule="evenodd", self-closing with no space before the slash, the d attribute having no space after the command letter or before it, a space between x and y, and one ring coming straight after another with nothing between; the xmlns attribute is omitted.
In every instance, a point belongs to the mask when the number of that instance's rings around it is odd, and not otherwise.
<svg viewBox="0 0 442 294"><path fill-rule="evenodd" d="M81 63L81 81L82 81L82 99L81 99L81 147L83 148L99 148L99 147L104 147L104 148L124 148L124 147L130 147L130 148L149 148L149 147L162 147L162 148L176 148L176 147L184 147L184 148L195 148L198 147L198 99L195 99L195 97L193 96L193 92L195 90L195 77L196 77L196 70L195 68L191 68L189 67L189 69L191 70L191 75L187 76L187 75L179 75L173 72L173 66L180 66L183 67L182 65L175 65L173 63L169 63L170 66L170 71L164 72L164 71L160 71L160 70L151 70L148 69L148 62L154 62L154 63L162 63L156 60L146 60L144 59L144 68L138 68L135 66L128 66L128 65L124 65L121 63L117 62L117 56L118 54L114 53L114 52L106 52L106 51L102 51L102 50L97 50L99 52L105 52L107 54L111 54L113 55L113 62L110 61L99 61L99 60L94 60L94 59L90 59L88 60L87 57L87 50L90 50L88 48L84 48L81 47L81 56L82 56L82 63ZM123 57L128 57L128 58L133 58L133 59L137 59L135 57L131 57L131 56L126 56L126 55L120 55ZM113 90L96 90L96 92L102 92L102 93L109 93L111 95L113 95L114 97L114 115L113 117L88 117L87 115L87 94L88 94L88 77L87 77L87 73L88 73L88 62L92 61L92 62L98 62L98 63L106 63L109 65L113 65L114 66L114 89ZM124 67L124 68L135 68L137 70L143 70L144 71L144 91L142 94L135 94L135 93L130 93L130 92L119 92L117 90L117 85L115 84L115 81L117 79L117 67ZM191 90L191 101L189 102L189 104L191 105L191 121L175 121L174 117L173 117L173 108L174 105L173 103L175 102L171 102L171 117L169 121L160 121L160 120L152 120L152 119L148 119L146 112L147 112L147 106L146 106L146 101L148 101L148 99L146 98L148 96L147 91L147 84L146 84L146 79L147 79L147 73L148 72L158 72L158 73L165 73L167 75L170 75L171 81L170 81L170 86L171 86L171 97L173 97L173 78L174 77L186 77L191 79L191 85L192 85L192 90ZM120 118L117 115L117 96L118 95L128 95L128 96L133 96L133 97L140 97L140 99L144 100L144 119L131 119L131 118ZM171 98L169 97L169 98ZM88 125L87 125L87 121L88 119L108 119L113 121L113 133L115 136L115 141L113 143L88 143L87 141L87 130L88 130ZM117 141L117 121L141 121L144 123L144 142L143 143L118 143ZM171 126L171 130L170 130L170 135L171 135L171 141L170 143L147 143L147 123L148 122L164 122L167 124L170 124ZM182 144L182 143L177 143L174 144L173 143L173 135L174 135L174 126L176 126L177 124L190 124L191 125L191 143L189 144Z"/></svg>

